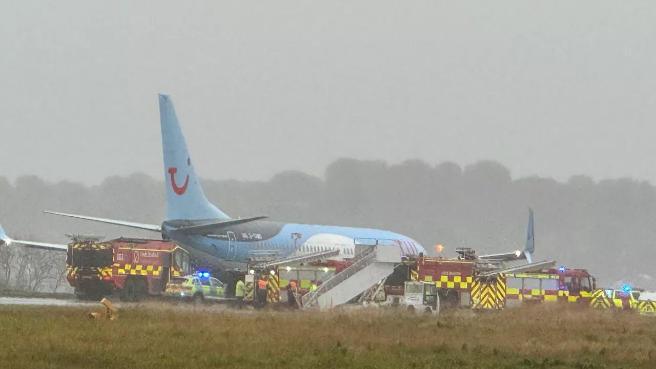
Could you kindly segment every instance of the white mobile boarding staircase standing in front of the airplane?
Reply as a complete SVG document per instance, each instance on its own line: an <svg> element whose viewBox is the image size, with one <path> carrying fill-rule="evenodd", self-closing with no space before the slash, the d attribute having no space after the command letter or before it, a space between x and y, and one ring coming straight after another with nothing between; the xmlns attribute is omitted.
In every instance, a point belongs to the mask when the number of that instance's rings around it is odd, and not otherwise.
<svg viewBox="0 0 656 369"><path fill-rule="evenodd" d="M319 307L329 309L348 303L394 272L401 263L401 250L392 240L373 240L374 244L363 244L356 239L358 254L354 263L342 272L323 282L316 290L303 295L302 309Z"/></svg>

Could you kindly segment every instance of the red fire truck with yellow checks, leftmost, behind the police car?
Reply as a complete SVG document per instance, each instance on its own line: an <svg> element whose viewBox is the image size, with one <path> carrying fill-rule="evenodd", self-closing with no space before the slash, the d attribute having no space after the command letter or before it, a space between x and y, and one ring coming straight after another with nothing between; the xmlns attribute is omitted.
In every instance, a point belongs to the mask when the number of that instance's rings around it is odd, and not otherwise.
<svg viewBox="0 0 656 369"><path fill-rule="evenodd" d="M170 278L191 273L189 253L163 240L73 240L66 263L79 299L118 294L123 301L140 301L163 293Z"/></svg>

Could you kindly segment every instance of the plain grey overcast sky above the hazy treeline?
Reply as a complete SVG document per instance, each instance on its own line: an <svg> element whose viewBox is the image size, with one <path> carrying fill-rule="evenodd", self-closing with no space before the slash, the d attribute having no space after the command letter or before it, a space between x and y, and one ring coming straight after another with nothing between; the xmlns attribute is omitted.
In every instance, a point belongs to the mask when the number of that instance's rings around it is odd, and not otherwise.
<svg viewBox="0 0 656 369"><path fill-rule="evenodd" d="M0 175L163 178L338 157L656 183L656 1L1 1Z"/></svg>

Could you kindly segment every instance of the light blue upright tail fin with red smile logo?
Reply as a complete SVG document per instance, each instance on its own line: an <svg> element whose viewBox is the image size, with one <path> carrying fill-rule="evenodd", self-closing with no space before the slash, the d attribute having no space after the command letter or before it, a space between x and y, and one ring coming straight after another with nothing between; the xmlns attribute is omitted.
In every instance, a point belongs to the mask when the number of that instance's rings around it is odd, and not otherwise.
<svg viewBox="0 0 656 369"><path fill-rule="evenodd" d="M164 154L167 220L230 219L209 202L203 193L169 95L159 94L159 120Z"/></svg>

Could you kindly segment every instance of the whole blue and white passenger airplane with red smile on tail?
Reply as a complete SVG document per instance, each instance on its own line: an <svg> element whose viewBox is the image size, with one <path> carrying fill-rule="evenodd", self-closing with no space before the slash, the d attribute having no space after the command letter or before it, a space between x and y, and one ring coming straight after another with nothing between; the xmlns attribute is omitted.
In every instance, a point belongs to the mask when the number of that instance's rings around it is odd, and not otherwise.
<svg viewBox="0 0 656 369"><path fill-rule="evenodd" d="M45 212L159 232L162 238L173 240L185 246L188 251L209 257L213 261L218 259L246 263L250 259L262 258L263 255L272 255L273 259L285 259L329 250L338 250L338 253L326 259L351 259L356 256L356 244L372 244L377 240L383 241L378 242L379 244L398 247L401 255L417 257L420 253L426 253L419 242L388 230L282 223L264 220L266 215L245 219L229 217L211 204L203 193L169 95L159 95L159 117L167 198L167 219L161 225L56 211ZM6 235L3 236L7 238ZM66 245L60 244L13 241L37 248L67 248ZM520 251L494 256L495 259L519 259Z"/></svg>

